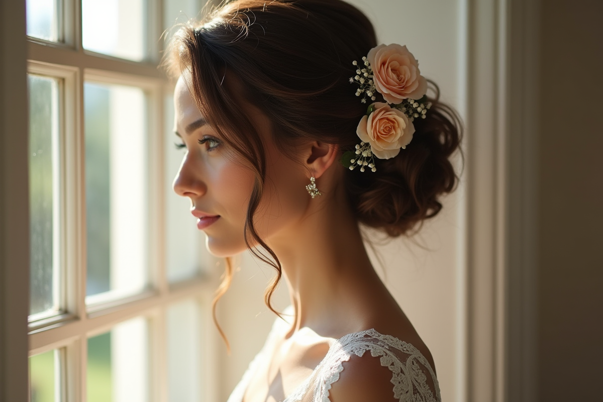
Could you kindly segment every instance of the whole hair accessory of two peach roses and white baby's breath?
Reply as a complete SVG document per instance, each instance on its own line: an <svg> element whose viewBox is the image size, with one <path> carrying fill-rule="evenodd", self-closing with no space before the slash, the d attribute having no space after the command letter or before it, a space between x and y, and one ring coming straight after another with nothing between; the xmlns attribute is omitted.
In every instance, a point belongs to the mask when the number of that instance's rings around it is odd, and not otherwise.
<svg viewBox="0 0 603 402"><path fill-rule="evenodd" d="M405 149L414 134L415 118L425 119L431 107L427 96L427 80L418 69L418 61L406 46L396 43L379 45L362 57L361 66L356 66L355 77L350 83L358 84L356 96L362 103L367 98L376 101L380 94L385 102L373 102L356 129L361 139L354 151L344 152L341 163L350 170L356 167L376 172L374 158L390 159Z"/></svg>

